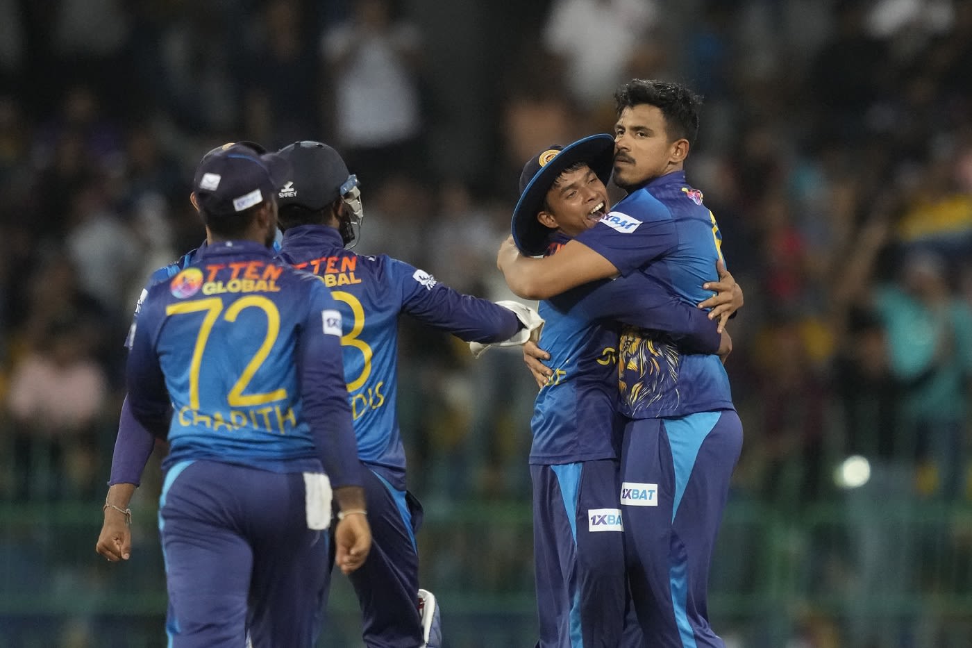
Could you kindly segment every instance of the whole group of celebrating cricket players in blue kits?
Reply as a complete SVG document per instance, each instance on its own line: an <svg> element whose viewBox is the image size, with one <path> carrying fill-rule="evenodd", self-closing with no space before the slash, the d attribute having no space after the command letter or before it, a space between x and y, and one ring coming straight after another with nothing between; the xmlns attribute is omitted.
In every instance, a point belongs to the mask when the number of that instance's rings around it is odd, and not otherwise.
<svg viewBox="0 0 972 648"><path fill-rule="evenodd" d="M129 503L166 441L170 646L310 648L327 631L335 565L368 648L448 641L447 601L443 634L418 582L400 314L476 357L522 346L537 380L537 645L724 646L707 584L743 444L723 367L743 292L685 177L700 97L633 79L615 101L613 133L551 144L523 167L497 255L523 303L356 254L362 192L325 143L268 152L238 141L202 157L191 201L206 238L153 274L125 341L96 546L131 557ZM626 194L614 204L610 183Z"/></svg>

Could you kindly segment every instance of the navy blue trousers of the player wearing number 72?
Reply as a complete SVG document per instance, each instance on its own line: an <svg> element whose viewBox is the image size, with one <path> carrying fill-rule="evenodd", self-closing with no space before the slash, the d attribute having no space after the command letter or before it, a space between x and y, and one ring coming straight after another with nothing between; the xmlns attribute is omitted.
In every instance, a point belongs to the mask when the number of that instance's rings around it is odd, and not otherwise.
<svg viewBox="0 0 972 648"><path fill-rule="evenodd" d="M330 578L301 473L208 460L166 471L158 528L172 648L310 648Z"/></svg>

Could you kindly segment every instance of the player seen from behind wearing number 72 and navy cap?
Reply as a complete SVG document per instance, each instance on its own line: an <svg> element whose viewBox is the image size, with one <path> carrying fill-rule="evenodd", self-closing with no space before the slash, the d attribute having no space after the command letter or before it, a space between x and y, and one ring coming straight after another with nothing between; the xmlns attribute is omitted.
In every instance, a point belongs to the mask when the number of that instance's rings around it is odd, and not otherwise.
<svg viewBox="0 0 972 648"><path fill-rule="evenodd" d="M169 441L159 498L169 645L314 645L336 559L370 548L341 315L273 259L276 155L230 146L194 181L210 244L149 290L126 368L131 414Z"/></svg>

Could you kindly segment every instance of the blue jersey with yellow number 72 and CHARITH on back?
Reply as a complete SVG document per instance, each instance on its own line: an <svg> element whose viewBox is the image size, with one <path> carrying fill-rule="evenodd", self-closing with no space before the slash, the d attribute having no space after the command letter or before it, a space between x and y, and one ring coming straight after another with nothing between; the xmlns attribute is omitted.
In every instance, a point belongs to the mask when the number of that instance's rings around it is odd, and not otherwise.
<svg viewBox="0 0 972 648"><path fill-rule="evenodd" d="M129 407L157 436L168 423L165 465L323 464L334 486L360 485L340 336L316 277L259 243L210 245L149 289L128 354Z"/></svg>

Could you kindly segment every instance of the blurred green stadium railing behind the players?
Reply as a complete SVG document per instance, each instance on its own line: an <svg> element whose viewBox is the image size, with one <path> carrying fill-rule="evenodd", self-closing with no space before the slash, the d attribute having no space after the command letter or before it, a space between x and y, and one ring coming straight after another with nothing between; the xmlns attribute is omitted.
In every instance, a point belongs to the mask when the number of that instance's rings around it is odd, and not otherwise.
<svg viewBox="0 0 972 648"><path fill-rule="evenodd" d="M165 645L156 512L140 502L129 562L94 543L97 503L0 504L0 645ZM532 645L536 610L529 503L426 511L422 585L437 595L450 648ZM972 507L897 501L805 506L794 515L738 497L713 558L712 625L738 646L832 632L835 645L969 645ZM360 615L334 575L320 646L357 648ZM897 645L896 643L893 645Z"/></svg>

